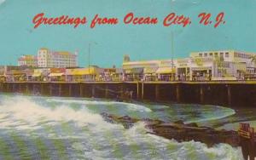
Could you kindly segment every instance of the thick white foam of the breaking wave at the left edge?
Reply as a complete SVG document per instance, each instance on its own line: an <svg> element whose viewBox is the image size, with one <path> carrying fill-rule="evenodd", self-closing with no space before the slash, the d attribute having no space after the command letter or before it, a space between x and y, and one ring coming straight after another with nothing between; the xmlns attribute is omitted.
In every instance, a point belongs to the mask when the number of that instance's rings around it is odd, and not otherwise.
<svg viewBox="0 0 256 160"><path fill-rule="evenodd" d="M102 119L99 114L91 113L86 108L81 108L78 111L62 105L55 108L44 107L38 105L35 101L26 98L15 98L14 100L3 100L0 107L1 117L8 116L9 121L1 123L1 127L20 127L21 123L27 123L27 128L37 126L38 123L46 122L48 124L58 122L74 122L79 126L93 125L95 129L97 126L102 128L113 127L109 126L107 122ZM26 126L22 126L23 129Z"/></svg>

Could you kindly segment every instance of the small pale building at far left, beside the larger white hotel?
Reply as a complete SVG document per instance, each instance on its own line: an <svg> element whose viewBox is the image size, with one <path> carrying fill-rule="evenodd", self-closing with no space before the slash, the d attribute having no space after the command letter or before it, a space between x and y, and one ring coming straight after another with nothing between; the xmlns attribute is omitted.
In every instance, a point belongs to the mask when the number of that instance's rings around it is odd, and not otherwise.
<svg viewBox="0 0 256 160"><path fill-rule="evenodd" d="M38 57L34 55L22 55L18 59L18 66L38 66Z"/></svg>

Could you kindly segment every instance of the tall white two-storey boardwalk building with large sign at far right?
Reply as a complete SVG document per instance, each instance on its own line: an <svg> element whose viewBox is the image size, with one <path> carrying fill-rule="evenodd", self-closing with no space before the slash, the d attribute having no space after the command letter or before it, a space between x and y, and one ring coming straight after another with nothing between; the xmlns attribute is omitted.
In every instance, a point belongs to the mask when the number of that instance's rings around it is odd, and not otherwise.
<svg viewBox="0 0 256 160"><path fill-rule="evenodd" d="M193 61L192 74L201 75L202 72L211 74L213 80L240 79L256 74L253 53L235 50L193 52L190 57ZM195 65L196 64L196 65ZM197 67L197 68L196 68ZM204 69L203 69L204 67ZM201 70L201 71L197 71Z"/></svg>

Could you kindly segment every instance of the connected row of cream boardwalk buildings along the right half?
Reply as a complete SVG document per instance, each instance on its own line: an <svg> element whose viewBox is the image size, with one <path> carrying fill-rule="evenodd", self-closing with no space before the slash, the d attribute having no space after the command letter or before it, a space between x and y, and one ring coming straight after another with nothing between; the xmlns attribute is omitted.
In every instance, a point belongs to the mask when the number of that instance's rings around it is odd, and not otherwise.
<svg viewBox="0 0 256 160"><path fill-rule="evenodd" d="M176 60L131 61L125 55L127 81L207 81L256 78L256 54L235 50L193 52ZM255 60L253 60L253 57ZM247 78L247 79L248 79Z"/></svg>

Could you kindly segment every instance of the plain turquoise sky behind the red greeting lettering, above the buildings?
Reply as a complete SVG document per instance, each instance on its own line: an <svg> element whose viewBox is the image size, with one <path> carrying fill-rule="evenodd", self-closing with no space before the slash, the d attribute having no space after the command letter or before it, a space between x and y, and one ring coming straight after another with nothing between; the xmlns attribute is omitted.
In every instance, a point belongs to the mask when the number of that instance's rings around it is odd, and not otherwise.
<svg viewBox="0 0 256 160"><path fill-rule="evenodd" d="M174 56L187 57L192 51L236 49L256 52L256 0L0 0L0 64L16 65L22 54L37 54L46 47L79 51L79 66L87 66L88 43L91 63L98 66L121 66L123 55L131 60L171 59L171 33L174 32ZM191 18L190 26L162 25L172 12ZM117 17L116 26L39 26L32 19L38 14L58 17L86 17L95 14ZM124 25L125 14L157 17L155 26ZM199 25L201 12L216 16L224 12L224 25Z"/></svg>

